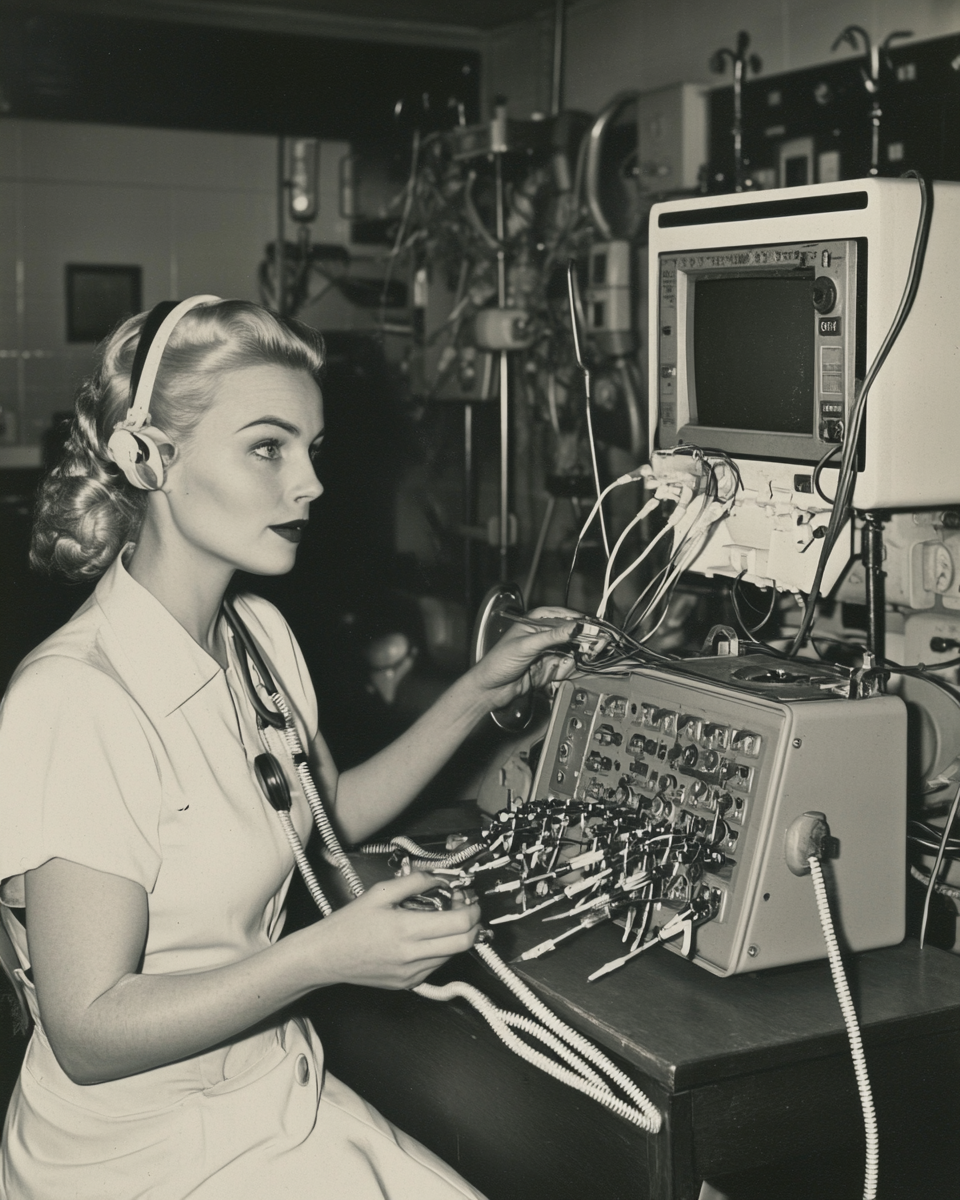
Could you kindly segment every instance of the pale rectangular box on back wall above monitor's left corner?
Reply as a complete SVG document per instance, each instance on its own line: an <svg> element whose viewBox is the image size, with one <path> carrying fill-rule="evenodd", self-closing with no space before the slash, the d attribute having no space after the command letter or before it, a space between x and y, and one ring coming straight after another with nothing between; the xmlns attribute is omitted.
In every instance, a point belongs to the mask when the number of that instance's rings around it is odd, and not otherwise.
<svg viewBox="0 0 960 1200"><path fill-rule="evenodd" d="M692 191L707 161L707 94L678 83L643 92L637 106L640 190Z"/></svg>

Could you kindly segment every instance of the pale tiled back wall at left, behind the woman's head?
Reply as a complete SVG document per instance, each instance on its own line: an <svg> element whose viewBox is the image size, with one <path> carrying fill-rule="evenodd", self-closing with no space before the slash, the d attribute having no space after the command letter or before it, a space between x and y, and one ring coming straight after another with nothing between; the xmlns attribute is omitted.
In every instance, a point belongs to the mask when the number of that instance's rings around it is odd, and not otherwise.
<svg viewBox="0 0 960 1200"><path fill-rule="evenodd" d="M349 240L343 152L322 148L316 240ZM20 448L0 445L0 466L35 458L24 448L89 370L91 347L66 341L66 264L139 265L146 306L197 292L258 299L276 155L269 137L0 120L0 406L18 426L4 440Z"/></svg>

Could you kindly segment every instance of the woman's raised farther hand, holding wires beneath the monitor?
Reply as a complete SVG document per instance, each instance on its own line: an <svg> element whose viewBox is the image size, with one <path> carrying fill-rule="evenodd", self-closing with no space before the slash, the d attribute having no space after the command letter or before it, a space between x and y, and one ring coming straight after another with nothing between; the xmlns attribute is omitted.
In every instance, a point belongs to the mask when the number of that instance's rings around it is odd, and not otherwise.
<svg viewBox="0 0 960 1200"><path fill-rule="evenodd" d="M569 619L536 631L518 622L487 650L468 677L484 694L488 709L504 708L533 688L566 679L575 670L570 642L583 617L569 608L551 607L534 608L527 617L532 620L540 617Z"/></svg>

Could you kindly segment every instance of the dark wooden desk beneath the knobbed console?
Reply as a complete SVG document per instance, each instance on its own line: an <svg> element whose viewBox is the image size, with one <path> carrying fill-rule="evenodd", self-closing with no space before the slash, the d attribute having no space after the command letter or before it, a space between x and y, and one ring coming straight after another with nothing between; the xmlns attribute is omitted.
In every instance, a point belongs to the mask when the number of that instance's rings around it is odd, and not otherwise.
<svg viewBox="0 0 960 1200"><path fill-rule="evenodd" d="M500 953L541 940L542 930L510 928ZM587 983L619 953L619 930L602 926L522 965L523 974L626 1064L665 1114L656 1136L517 1060L460 1002L335 988L311 997L310 1015L330 1069L491 1200L696 1200L702 1180L758 1164L841 1146L862 1158L863 1122L826 961L718 979L658 948ZM470 959L445 973L505 1002ZM881 1200L960 1196L952 1165L960 958L907 941L857 955L848 978L880 1120ZM946 1142L940 1129L953 1130ZM928 1168L953 1177L955 1189L931 1193L918 1174ZM828 1189L809 1194L821 1200Z"/></svg>

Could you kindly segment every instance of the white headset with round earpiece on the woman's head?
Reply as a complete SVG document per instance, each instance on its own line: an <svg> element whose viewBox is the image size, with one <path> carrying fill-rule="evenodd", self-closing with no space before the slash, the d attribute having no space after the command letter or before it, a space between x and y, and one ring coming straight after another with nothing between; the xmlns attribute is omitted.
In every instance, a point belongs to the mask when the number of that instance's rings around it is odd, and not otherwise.
<svg viewBox="0 0 960 1200"><path fill-rule="evenodd" d="M140 330L133 370L130 373L130 408L118 421L107 443L107 455L134 487L155 492L163 486L163 456L154 438L144 430L150 418L150 400L160 370L160 360L174 326L191 308L218 304L220 296L197 295L187 300L162 300L150 310Z"/></svg>

